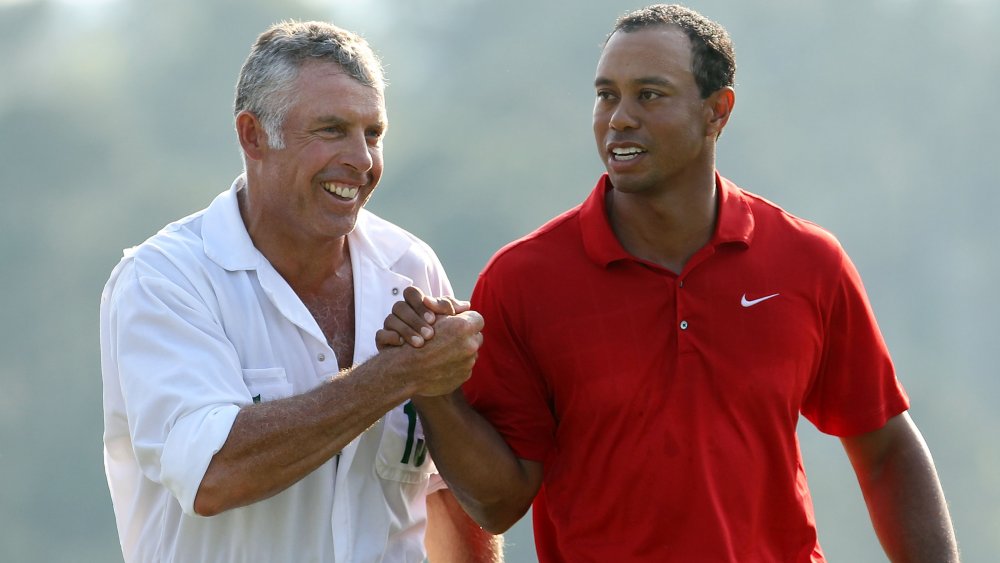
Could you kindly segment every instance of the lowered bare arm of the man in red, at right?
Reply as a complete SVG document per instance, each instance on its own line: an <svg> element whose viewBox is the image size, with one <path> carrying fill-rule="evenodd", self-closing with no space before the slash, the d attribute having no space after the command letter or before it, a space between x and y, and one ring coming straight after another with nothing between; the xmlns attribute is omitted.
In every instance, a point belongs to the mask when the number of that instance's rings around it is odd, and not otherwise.
<svg viewBox="0 0 1000 563"><path fill-rule="evenodd" d="M957 562L958 545L934 461L909 414L841 441L889 559Z"/></svg>

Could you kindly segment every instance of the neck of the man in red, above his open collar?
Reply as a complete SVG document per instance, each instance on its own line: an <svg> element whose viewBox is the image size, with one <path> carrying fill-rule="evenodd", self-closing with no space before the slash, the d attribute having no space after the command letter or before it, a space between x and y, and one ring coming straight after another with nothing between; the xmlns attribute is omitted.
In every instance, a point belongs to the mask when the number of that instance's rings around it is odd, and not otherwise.
<svg viewBox="0 0 1000 563"><path fill-rule="evenodd" d="M615 236L630 254L680 273L715 232L714 170L696 182L655 192L611 190L606 199Z"/></svg>

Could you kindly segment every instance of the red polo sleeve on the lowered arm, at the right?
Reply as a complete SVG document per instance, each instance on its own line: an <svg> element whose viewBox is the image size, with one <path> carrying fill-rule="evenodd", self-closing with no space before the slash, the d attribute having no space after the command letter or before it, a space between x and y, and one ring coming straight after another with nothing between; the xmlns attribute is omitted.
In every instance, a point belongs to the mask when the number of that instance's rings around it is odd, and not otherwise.
<svg viewBox="0 0 1000 563"><path fill-rule="evenodd" d="M877 430L909 408L909 399L846 254L829 302L821 363L802 414L835 436Z"/></svg>

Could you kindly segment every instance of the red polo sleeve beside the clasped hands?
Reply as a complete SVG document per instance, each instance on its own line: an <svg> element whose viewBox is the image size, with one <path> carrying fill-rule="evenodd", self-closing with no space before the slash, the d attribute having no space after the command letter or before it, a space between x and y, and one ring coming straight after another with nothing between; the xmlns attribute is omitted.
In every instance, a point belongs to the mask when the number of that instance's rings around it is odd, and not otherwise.
<svg viewBox="0 0 1000 563"><path fill-rule="evenodd" d="M493 271L495 272L495 271ZM483 345L463 386L469 403L500 432L518 457L544 461L555 444L555 418L545 380L519 328L524 309L514 283L491 281L484 272L472 292L472 308L485 320ZM504 287L501 294L496 287ZM522 315L523 316L523 315Z"/></svg>

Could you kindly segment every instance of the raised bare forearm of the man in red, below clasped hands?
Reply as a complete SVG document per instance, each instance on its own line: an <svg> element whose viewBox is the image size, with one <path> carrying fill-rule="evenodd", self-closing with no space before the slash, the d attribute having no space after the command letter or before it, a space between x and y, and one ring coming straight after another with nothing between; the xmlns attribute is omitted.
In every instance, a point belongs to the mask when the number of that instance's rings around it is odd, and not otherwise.
<svg viewBox="0 0 1000 563"><path fill-rule="evenodd" d="M434 463L463 508L499 534L531 505L541 464L519 459L462 392L414 397Z"/></svg>

